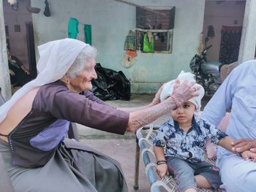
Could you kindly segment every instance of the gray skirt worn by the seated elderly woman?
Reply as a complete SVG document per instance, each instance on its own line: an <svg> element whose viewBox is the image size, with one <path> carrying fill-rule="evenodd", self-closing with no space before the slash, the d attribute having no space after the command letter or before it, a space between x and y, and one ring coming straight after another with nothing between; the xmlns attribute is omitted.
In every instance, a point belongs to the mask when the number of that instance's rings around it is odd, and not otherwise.
<svg viewBox="0 0 256 192"><path fill-rule="evenodd" d="M39 168L12 166L10 147L1 139L0 153L16 192L128 191L117 161L72 139Z"/></svg>

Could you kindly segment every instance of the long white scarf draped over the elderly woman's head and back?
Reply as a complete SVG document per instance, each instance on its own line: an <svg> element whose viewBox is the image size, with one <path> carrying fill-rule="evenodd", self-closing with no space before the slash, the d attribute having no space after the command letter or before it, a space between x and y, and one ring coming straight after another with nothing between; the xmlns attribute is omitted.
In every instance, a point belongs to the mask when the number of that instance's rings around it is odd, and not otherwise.
<svg viewBox="0 0 256 192"><path fill-rule="evenodd" d="M0 123L21 96L34 88L60 80L86 46L89 45L76 39L60 39L40 45L37 78L16 91L12 98L0 107Z"/></svg>

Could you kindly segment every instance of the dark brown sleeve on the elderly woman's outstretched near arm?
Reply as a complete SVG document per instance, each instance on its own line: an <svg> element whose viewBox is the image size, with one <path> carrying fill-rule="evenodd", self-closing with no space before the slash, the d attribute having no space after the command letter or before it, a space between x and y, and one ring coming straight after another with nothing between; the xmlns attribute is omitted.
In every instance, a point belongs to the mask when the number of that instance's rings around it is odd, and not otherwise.
<svg viewBox="0 0 256 192"><path fill-rule="evenodd" d="M54 118L69 120L110 133L124 134L129 120L129 113L116 110L78 93L67 90L64 86L41 87L34 104L39 110L50 113Z"/></svg>

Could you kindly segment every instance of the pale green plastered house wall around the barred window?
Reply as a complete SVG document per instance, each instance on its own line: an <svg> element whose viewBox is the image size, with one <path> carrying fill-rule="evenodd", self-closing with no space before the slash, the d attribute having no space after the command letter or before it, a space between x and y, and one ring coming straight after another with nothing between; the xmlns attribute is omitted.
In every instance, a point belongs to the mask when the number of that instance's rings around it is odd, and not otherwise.
<svg viewBox="0 0 256 192"><path fill-rule="evenodd" d="M50 40L67 37L70 17L92 25L92 43L97 47L97 62L122 71L132 84L132 93L155 93L162 82L175 78L181 70L187 72L189 61L197 53L203 31L204 0L127 0L141 6L176 7L173 30L173 53L140 53L130 68L121 66L124 40L129 29L135 28L135 7L114 0L49 0L51 16L45 17L42 0L31 0L31 7L42 11L33 14L36 46ZM80 31L80 33L83 31ZM83 39L78 34L78 39Z"/></svg>

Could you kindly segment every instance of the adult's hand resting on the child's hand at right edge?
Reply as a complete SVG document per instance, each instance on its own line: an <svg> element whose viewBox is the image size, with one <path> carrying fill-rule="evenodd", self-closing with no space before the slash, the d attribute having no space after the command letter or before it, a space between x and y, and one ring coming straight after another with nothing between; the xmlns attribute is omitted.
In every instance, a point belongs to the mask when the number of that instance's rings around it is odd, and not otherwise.
<svg viewBox="0 0 256 192"><path fill-rule="evenodd" d="M244 152L246 150L250 150L256 153L256 140L255 139L238 139L231 143L233 145L233 152Z"/></svg>

